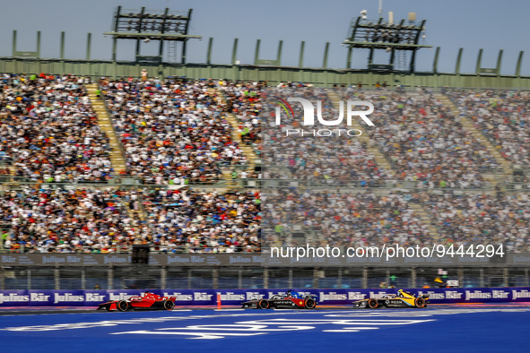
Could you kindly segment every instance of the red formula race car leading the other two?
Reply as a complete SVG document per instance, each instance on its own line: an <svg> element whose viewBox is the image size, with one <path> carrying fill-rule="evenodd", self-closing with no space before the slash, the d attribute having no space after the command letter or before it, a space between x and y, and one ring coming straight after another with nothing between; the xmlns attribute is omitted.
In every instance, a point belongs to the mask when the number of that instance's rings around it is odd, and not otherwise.
<svg viewBox="0 0 530 353"><path fill-rule="evenodd" d="M127 300L113 300L100 304L97 310L127 311L127 310L173 310L177 297L161 297L145 292L143 297L133 296Z"/></svg>

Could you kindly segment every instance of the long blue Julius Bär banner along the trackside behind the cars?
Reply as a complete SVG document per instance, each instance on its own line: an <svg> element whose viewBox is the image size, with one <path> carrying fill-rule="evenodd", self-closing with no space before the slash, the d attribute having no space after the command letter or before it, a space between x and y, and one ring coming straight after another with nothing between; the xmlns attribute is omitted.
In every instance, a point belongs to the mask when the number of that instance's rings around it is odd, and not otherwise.
<svg viewBox="0 0 530 353"><path fill-rule="evenodd" d="M530 302L530 287L511 288L404 288L430 295L431 304ZM159 296L177 297L177 306L215 306L220 296L223 306L239 306L253 298L284 295L288 289L148 289ZM319 305L351 305L355 300L395 294L397 289L296 289L312 295ZM138 289L114 290L0 290L0 306L87 306L128 299L143 294Z"/></svg>

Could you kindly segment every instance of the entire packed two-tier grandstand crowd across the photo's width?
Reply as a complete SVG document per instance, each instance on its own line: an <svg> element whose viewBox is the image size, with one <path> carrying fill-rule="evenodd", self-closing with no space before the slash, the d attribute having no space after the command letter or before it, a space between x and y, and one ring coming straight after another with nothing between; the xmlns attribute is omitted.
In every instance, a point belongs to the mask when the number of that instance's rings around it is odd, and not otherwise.
<svg viewBox="0 0 530 353"><path fill-rule="evenodd" d="M14 183L2 199L4 250L112 253L147 244L162 252L256 253L262 232L267 245L491 242L528 250L528 198L512 193L512 180L496 182L502 166L491 151L510 166L528 166L525 91L326 91L291 82L271 91L267 82L103 78L96 99L107 105L124 151L120 175L89 83L73 74L2 76L2 170ZM280 143L282 130L270 128L274 108L270 101L262 108L265 93L320 99L325 115L336 113L336 97L372 101L371 142ZM263 172L248 169L256 156ZM378 164L381 156L389 168ZM231 184L258 176L308 187L267 189L262 208L259 187ZM117 185L120 177L136 184ZM527 187L526 176L517 182ZM333 207L317 211L326 205ZM307 234L292 237L295 225Z"/></svg>

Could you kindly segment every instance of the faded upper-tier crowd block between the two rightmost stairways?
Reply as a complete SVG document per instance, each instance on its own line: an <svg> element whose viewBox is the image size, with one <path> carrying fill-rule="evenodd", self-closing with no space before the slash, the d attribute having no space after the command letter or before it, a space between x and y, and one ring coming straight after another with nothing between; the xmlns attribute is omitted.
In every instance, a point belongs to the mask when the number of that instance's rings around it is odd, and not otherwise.
<svg viewBox="0 0 530 353"><path fill-rule="evenodd" d="M383 95L384 94L384 95ZM370 139L390 159L398 180L421 188L482 188L496 160L432 95L365 92L374 104Z"/></svg>

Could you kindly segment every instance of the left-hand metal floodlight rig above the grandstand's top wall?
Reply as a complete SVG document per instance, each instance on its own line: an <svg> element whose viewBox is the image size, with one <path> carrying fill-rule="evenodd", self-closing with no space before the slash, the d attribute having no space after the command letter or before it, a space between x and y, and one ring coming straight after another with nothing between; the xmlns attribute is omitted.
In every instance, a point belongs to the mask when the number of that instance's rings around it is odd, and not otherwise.
<svg viewBox="0 0 530 353"><path fill-rule="evenodd" d="M117 39L136 40L136 61L149 59L152 62L162 61L164 41L180 41L182 46L182 64L186 63L186 45L188 39L202 39L202 36L188 34L189 22L191 21L192 9L187 13L145 10L125 10L117 6L112 22L112 31L103 35L112 36L114 40L112 47L112 60L116 61ZM141 41L148 43L151 40L159 40L158 56L140 56Z"/></svg>

